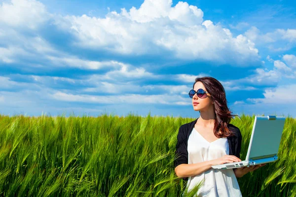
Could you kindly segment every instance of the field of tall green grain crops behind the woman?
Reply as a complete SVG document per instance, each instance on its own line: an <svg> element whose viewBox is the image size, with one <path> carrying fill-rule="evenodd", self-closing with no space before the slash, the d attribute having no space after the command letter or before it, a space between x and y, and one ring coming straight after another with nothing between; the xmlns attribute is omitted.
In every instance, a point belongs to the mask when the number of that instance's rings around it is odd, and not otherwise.
<svg viewBox="0 0 296 197"><path fill-rule="evenodd" d="M242 132L244 159L254 116L241 119L231 123ZM177 134L193 120L0 115L0 196L181 196L186 181L174 171ZM238 178L244 197L296 197L295 118L286 119L278 157Z"/></svg>

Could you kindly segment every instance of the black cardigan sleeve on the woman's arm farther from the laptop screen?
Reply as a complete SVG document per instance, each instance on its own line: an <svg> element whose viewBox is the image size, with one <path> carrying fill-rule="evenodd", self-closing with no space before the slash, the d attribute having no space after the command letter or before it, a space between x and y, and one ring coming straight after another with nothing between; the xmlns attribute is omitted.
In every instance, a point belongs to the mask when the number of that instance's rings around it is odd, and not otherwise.
<svg viewBox="0 0 296 197"><path fill-rule="evenodd" d="M177 145L175 156L176 159L174 161L175 168L180 164L188 164L188 151L186 146L186 135L185 135L185 127L180 127L178 136L177 136Z"/></svg>

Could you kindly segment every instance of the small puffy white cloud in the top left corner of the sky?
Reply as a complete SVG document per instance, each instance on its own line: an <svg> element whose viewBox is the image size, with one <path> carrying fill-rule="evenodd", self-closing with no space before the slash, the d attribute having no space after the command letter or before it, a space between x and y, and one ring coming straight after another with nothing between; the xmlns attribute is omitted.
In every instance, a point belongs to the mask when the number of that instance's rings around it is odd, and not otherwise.
<svg viewBox="0 0 296 197"><path fill-rule="evenodd" d="M47 19L45 6L36 0L11 0L0 5L0 24L37 29Z"/></svg>

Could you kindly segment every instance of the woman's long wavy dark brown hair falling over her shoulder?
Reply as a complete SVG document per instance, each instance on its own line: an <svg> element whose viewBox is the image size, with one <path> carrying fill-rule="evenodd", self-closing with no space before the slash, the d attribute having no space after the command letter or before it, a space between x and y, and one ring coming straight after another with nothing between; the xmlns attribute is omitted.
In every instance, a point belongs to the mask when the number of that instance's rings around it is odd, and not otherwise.
<svg viewBox="0 0 296 197"><path fill-rule="evenodd" d="M203 83L214 102L215 136L218 138L232 136L234 133L228 129L227 124L230 123L233 116L238 115L233 115L228 109L225 90L222 84L213 77L197 77L195 79L195 83L198 81ZM195 83L193 84L193 88ZM219 131L221 131L221 133L219 133Z"/></svg>

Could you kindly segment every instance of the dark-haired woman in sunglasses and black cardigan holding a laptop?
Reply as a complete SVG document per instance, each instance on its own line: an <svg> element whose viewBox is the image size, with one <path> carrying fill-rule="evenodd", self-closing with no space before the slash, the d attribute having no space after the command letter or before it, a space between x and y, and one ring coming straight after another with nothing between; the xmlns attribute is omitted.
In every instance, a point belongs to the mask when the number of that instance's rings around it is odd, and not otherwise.
<svg viewBox="0 0 296 197"><path fill-rule="evenodd" d="M204 181L197 192L199 196L241 196L236 177L242 177L261 165L234 169L211 167L241 161L242 135L237 127L229 124L234 115L227 107L222 84L212 77L196 78L189 97L192 98L193 109L200 112L200 117L179 129L176 175L188 177L188 192Z"/></svg>

